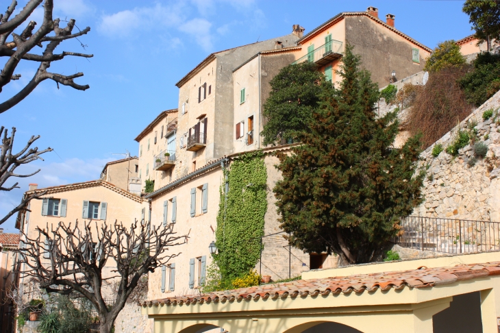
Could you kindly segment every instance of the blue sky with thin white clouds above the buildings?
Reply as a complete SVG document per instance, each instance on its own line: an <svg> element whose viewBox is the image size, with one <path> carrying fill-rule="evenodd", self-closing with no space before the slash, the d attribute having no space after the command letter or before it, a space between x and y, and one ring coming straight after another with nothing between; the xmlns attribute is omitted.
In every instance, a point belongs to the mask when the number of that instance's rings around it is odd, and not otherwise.
<svg viewBox="0 0 500 333"><path fill-rule="evenodd" d="M19 8L26 0L18 0ZM2 0L6 8L10 0ZM304 5L301 5L303 3ZM379 17L395 14L395 27L427 45L458 40L471 34L463 1L277 1L184 0L92 1L55 0L54 17L75 18L90 33L63 42L58 51L92 53L94 58L67 57L54 62L51 71L83 72L76 82L89 84L82 92L57 88L49 80L17 106L0 114L0 125L16 127L16 144L24 146L31 135L42 149L54 152L23 167L41 169L21 179L21 189L0 193L0 215L17 204L30 182L40 187L83 182L99 177L106 162L122 158L112 153L138 154L134 138L162 110L177 107L175 83L213 51L290 34L293 24L305 33L338 12L379 8ZM32 15L41 23L42 10ZM38 52L38 50L37 50ZM252 55L249 55L249 57ZM5 63L2 60L1 65ZM34 75L38 64L21 62L21 79L3 88L0 100L18 92ZM3 223L16 232L14 219Z"/></svg>

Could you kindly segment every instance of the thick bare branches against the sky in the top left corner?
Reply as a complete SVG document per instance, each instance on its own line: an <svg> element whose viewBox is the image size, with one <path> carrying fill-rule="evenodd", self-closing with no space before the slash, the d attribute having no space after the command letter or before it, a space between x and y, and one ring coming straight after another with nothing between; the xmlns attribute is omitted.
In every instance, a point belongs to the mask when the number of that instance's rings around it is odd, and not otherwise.
<svg viewBox="0 0 500 333"><path fill-rule="evenodd" d="M20 74L14 74L16 66L21 60L40 62L40 66L38 66L38 70L31 81L16 95L0 103L0 113L9 110L25 99L40 82L46 79L55 81L58 87L59 84L62 84L64 86L71 86L77 90L86 90L90 88L88 84L82 86L73 81L77 77L84 76L84 73L61 75L47 71L51 66L51 62L61 60L66 56L92 57L92 54L66 51L54 53L55 48L58 47L63 40L77 38L78 36L87 34L90 31L90 27L86 27L73 34L73 28L75 27L75 20L73 18L67 21L66 27L60 27L59 24L61 20L59 18L52 18L53 0L45 0L43 4L43 21L38 30L35 31L37 23L35 21L30 21L20 35L14 33L14 29L27 21L29 15L32 14L40 3L42 3L42 0L29 0L23 10L14 16L14 18L10 19L10 16L17 6L17 1L12 0L5 14L0 15L0 56L9 58L0 72L0 92L3 86L11 82L12 79L19 79L21 77ZM51 32L54 34L51 35ZM12 40L8 41L9 36L12 36ZM41 55L29 53L34 47L43 48L45 42L45 49L43 49Z"/></svg>

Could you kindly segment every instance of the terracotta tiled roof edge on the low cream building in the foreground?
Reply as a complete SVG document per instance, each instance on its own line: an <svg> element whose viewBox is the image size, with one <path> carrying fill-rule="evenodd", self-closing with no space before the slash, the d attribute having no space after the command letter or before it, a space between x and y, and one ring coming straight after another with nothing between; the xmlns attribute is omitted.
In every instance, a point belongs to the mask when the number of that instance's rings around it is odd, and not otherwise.
<svg viewBox="0 0 500 333"><path fill-rule="evenodd" d="M500 275L500 262L486 264L462 264L455 267L438 267L427 269L420 267L412 271L395 271L386 273L360 274L347 277L326 277L322 279L297 280L282 284L265 284L232 291L218 291L201 295L169 297L155 301L145 301L142 306L202 304L204 302L242 301L258 299L277 299L286 297L314 297L329 293L349 294L364 291L386 291L390 288L431 288L441 284L451 284L478 277Z"/></svg>

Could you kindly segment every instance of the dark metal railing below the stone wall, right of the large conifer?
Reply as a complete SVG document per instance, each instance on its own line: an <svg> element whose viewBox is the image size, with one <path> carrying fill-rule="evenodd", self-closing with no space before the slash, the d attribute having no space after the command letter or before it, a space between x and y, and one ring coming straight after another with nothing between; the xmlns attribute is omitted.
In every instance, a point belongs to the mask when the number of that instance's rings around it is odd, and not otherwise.
<svg viewBox="0 0 500 333"><path fill-rule="evenodd" d="M500 222L401 217L401 247L462 254L500 249Z"/></svg>

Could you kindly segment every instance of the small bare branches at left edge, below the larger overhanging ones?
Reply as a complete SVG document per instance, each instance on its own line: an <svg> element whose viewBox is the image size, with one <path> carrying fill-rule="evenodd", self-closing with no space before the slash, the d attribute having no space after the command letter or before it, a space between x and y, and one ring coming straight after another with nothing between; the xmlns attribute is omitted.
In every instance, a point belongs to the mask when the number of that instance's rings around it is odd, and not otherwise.
<svg viewBox="0 0 500 333"><path fill-rule="evenodd" d="M31 177L40 171L38 169L34 173L29 173L28 175L21 175L19 173L15 173L16 168L21 164L27 164L29 162L33 162L34 160L43 160L40 157L42 153L47 153L47 151L52 151L51 147L45 150L38 150L38 147L30 148L31 145L40 138L39 135L32 136L28 143L25 145L21 151L18 153L12 153L12 148L14 146L14 135L16 134L16 127L12 127L12 133L8 136L7 129L4 129L3 126L0 126L0 136L2 136L1 146L0 146L0 190L10 191L14 188L19 188L18 182L14 183L12 186L5 186L5 182L10 179L10 177ZM28 202L32 199L38 199L42 195L45 195L46 192L43 191L34 191L34 193L27 195L21 199L21 203L16 207L12 208L10 212L8 212L5 217L0 219L0 224L7 221L9 217L16 214L16 212L20 210L25 210Z"/></svg>

